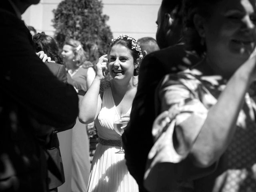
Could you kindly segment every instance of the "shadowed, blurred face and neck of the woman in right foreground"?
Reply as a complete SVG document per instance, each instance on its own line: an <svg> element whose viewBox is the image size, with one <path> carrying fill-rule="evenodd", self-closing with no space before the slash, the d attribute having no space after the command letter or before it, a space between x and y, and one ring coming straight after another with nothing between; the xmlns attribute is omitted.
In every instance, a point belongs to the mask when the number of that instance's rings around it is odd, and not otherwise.
<svg viewBox="0 0 256 192"><path fill-rule="evenodd" d="M229 78L255 48L256 4L255 0L226 0L212 10L218 11L212 11L203 25L207 63Z"/></svg>

